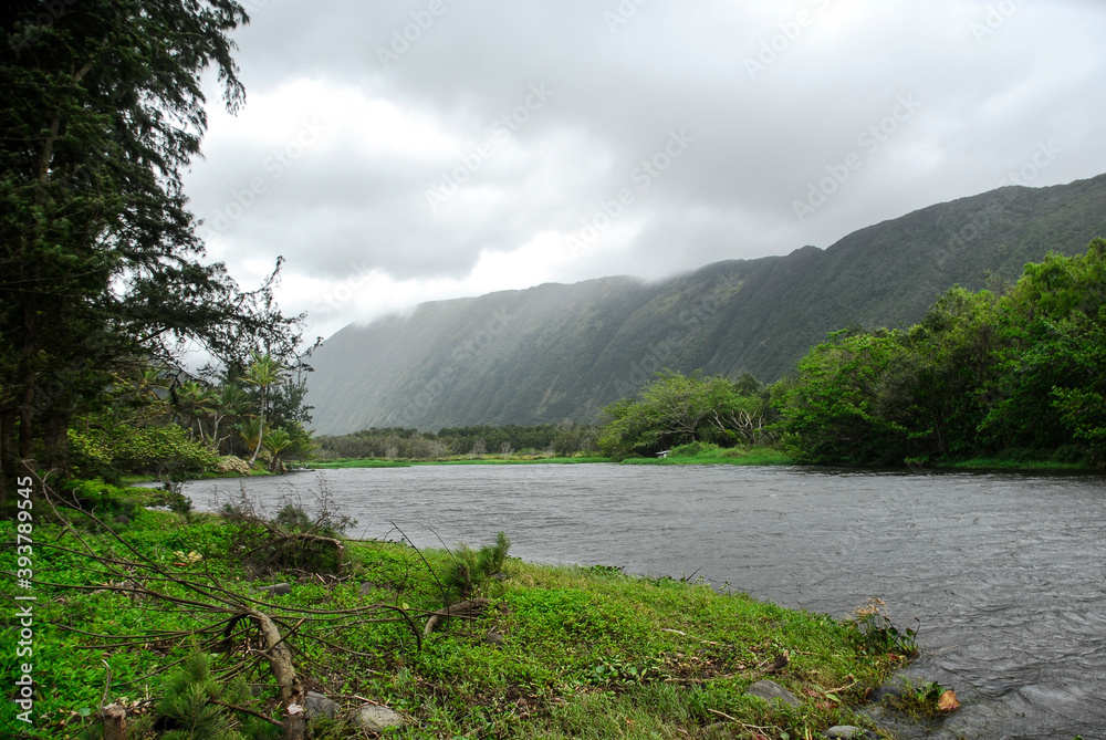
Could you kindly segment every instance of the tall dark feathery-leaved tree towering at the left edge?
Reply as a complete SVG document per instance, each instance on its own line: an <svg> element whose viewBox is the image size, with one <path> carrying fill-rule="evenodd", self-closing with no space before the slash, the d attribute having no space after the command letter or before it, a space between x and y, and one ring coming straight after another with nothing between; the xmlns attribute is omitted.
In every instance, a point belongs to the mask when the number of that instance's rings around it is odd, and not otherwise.
<svg viewBox="0 0 1106 740"><path fill-rule="evenodd" d="M294 353L302 316L205 263L180 173L207 125L200 73L244 101L233 0L12 0L0 10L0 466L64 465L113 369L195 340ZM278 262L278 270L280 263ZM36 450L38 445L38 450Z"/></svg>

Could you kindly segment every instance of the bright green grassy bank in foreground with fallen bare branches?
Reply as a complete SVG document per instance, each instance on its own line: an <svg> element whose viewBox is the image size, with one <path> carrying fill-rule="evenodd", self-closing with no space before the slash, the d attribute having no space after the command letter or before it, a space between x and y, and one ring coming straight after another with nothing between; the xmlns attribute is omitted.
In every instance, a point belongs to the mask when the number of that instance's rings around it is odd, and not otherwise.
<svg viewBox="0 0 1106 740"><path fill-rule="evenodd" d="M118 539L64 509L72 525L51 523L35 502L33 737L100 737L102 701L128 708L131 738L179 727L180 701L165 697L191 696L196 681L174 674L197 648L210 660L199 708L262 732L263 721L223 706L281 716L251 626L258 613L280 630L306 688L343 711L392 707L407 720L388 734L397 738L685 738L717 723L722 737L813 738L834 725L872 727L855 708L908 647L870 618L858 625L702 583L512 559L471 594L487 597L486 608L424 635L429 613L460 597L442 591L453 562L444 550L345 541L340 555L281 539L304 531L296 527L326 533L309 522L333 525L334 512L283 510L267 528L149 511L139 498L147 490L127 492L129 501L116 493L86 503L101 522L127 518L112 524ZM15 524L2 530L11 549ZM276 583L290 592L259 591ZM17 676L11 614L0 664ZM790 663L766 673L784 653ZM237 694L234 676L246 681ZM763 678L799 706L745 694ZM9 709L0 734L21 729ZM366 736L323 722L313 737Z"/></svg>

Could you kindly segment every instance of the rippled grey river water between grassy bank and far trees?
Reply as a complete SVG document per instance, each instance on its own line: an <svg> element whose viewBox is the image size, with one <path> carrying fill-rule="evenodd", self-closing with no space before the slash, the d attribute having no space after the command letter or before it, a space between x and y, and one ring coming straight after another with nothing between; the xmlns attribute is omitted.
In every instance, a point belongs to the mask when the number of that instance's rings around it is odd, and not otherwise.
<svg viewBox="0 0 1106 740"><path fill-rule="evenodd" d="M243 481L325 489L366 538L490 543L528 561L702 576L783 606L846 616L881 598L922 656L908 673L962 708L922 734L1106 738L1106 479L808 468L434 466ZM198 506L238 481L196 481Z"/></svg>

